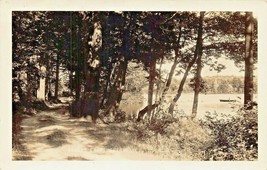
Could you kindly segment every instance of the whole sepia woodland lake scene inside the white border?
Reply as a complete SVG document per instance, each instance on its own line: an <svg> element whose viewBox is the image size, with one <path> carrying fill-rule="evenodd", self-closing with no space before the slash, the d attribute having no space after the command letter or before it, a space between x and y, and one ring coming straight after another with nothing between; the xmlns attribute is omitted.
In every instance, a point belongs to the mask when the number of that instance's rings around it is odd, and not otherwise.
<svg viewBox="0 0 267 170"><path fill-rule="evenodd" d="M252 11L12 11L12 160L258 160Z"/></svg>

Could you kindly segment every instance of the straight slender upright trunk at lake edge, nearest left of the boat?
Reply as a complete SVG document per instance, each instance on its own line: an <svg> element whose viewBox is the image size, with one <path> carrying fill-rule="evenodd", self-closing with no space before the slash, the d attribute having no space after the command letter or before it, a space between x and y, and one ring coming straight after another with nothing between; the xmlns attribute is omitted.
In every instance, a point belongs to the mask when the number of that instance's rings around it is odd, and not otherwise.
<svg viewBox="0 0 267 170"><path fill-rule="evenodd" d="M201 83L201 70L202 70L202 47L203 47L203 18L205 12L200 12L199 17L199 28L198 28L198 41L199 43L196 46L197 51L197 70L196 70L196 77L195 77L195 87L194 87L194 101L193 101L193 108L192 108L192 118L195 118L197 115L197 107L198 107L198 96L200 92L200 83Z"/></svg>

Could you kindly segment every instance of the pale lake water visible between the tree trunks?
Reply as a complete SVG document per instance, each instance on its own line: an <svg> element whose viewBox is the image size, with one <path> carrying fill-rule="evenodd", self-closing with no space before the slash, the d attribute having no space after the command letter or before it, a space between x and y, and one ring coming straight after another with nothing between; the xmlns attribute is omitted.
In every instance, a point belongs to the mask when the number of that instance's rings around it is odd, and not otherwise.
<svg viewBox="0 0 267 170"><path fill-rule="evenodd" d="M147 105L147 94L143 93L142 99L136 99L136 95L128 94L123 96L123 102L121 102L120 108L126 113L137 114L139 110L143 109ZM173 95L167 97L167 107L173 99ZM194 93L184 93L178 100L175 110L184 112L186 116L190 116L192 112ZM207 112L210 113L224 113L235 114L238 110L238 106L243 105L243 94L200 94L198 100L198 113L197 118L204 118ZM257 100L257 95L254 95ZM236 100L236 102L220 102L220 99ZM235 106L235 107L233 107Z"/></svg>

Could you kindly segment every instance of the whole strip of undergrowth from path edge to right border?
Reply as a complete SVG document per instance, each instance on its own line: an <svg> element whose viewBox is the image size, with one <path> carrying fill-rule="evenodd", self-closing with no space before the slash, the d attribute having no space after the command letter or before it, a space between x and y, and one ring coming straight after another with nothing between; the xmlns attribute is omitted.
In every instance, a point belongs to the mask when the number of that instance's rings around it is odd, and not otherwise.
<svg viewBox="0 0 267 170"><path fill-rule="evenodd" d="M136 150L170 160L256 160L257 108L236 115L210 113L203 120L168 116L126 123Z"/></svg>

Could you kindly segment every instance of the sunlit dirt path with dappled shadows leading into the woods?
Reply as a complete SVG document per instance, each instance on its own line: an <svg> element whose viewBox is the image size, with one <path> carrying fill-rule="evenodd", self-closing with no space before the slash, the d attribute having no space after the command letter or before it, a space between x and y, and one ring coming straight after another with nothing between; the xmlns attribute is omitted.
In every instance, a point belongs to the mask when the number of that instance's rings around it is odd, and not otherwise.
<svg viewBox="0 0 267 170"><path fill-rule="evenodd" d="M64 108L39 112L21 126L24 158L29 160L160 160L131 149L133 140L118 125L73 119Z"/></svg>

